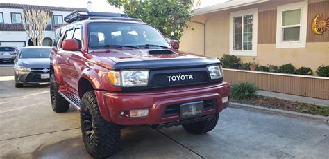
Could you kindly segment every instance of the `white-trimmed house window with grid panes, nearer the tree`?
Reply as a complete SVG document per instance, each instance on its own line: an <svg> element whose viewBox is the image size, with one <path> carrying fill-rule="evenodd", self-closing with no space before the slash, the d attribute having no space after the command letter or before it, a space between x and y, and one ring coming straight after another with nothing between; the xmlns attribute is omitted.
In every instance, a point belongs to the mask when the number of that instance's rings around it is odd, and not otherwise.
<svg viewBox="0 0 329 159"><path fill-rule="evenodd" d="M257 55L257 8L230 12L230 54Z"/></svg>

